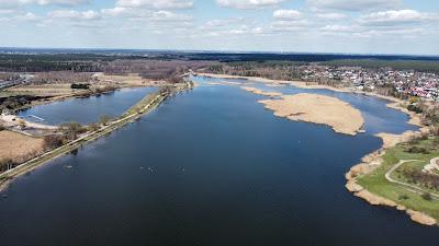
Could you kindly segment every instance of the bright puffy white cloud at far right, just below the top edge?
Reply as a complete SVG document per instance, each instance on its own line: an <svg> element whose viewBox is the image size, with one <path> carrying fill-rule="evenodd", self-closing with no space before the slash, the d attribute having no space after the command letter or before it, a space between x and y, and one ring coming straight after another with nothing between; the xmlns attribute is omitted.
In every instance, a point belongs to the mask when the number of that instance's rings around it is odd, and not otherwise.
<svg viewBox="0 0 439 246"><path fill-rule="evenodd" d="M434 16L416 10L391 10L363 15L359 19L359 23L362 25L393 26L416 24L429 20L434 20Z"/></svg>

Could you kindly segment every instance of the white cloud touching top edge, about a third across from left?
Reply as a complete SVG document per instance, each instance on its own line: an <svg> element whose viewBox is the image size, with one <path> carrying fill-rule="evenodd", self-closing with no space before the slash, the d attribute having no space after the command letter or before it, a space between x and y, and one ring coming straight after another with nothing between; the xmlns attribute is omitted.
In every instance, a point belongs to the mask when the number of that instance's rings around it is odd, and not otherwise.
<svg viewBox="0 0 439 246"><path fill-rule="evenodd" d="M154 9L190 9L193 2L190 0L117 0L116 7L127 8L154 8Z"/></svg>

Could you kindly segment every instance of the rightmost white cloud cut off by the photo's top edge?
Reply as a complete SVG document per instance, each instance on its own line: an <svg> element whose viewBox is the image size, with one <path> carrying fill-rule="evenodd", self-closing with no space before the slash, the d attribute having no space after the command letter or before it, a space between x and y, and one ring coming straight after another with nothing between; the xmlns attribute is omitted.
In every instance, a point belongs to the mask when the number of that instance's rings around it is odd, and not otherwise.
<svg viewBox="0 0 439 246"><path fill-rule="evenodd" d="M341 11L369 11L382 9L395 9L402 0L306 0L314 11L325 9Z"/></svg>

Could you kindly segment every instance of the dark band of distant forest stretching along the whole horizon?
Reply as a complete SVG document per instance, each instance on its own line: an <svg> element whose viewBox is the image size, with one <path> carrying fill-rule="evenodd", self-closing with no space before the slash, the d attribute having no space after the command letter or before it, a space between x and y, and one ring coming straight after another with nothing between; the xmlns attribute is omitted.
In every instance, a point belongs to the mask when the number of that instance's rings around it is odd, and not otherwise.
<svg viewBox="0 0 439 246"><path fill-rule="evenodd" d="M333 67L393 68L396 70L416 70L439 72L439 57L421 56L372 56L372 55L325 55L325 54L228 54L228 52L177 52L143 50L1 50L0 71L2 72L137 72L176 73L187 69L196 69L212 62L267 62L282 66L319 63ZM75 52L74 52L75 51ZM124 66L121 66L121 65ZM119 66L116 66L119 65ZM135 69L125 66L132 65ZM158 70L149 71L150 67ZM169 66L169 68L162 67ZM157 69L157 68L156 68ZM112 71L109 71L112 70ZM123 71L120 71L123 70ZM178 71L177 71L178 70Z"/></svg>

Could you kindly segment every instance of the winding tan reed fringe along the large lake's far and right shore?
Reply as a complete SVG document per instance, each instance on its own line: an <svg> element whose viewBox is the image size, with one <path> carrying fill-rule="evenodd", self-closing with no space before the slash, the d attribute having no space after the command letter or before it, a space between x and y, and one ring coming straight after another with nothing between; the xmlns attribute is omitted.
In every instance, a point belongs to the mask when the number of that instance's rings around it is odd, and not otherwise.
<svg viewBox="0 0 439 246"><path fill-rule="evenodd" d="M238 77L238 75L227 75L227 74L213 74L213 73L195 73L196 75L201 77L206 77L206 78L215 78L215 79L245 79L245 80L254 80L262 83L270 83L270 84L290 84L296 87L301 89L324 89L324 90L330 90L335 92L342 92L342 93L354 93L354 94L361 94L361 95L367 95L367 96L374 96L381 99L385 99L389 103L386 104L387 108L392 108L395 110L399 110L408 116L408 121L407 124L417 126L419 129L417 131L405 131L399 134L391 134L391 133L378 133L375 137L381 138L383 141L382 147L372 152L367 154L361 159L360 164L356 164L350 169L345 174L345 177L347 179L347 183L345 185L346 189L350 192L353 194L353 196L363 199L371 206L386 206L386 207L392 207L397 209L398 211L404 211L407 215L409 215L410 220L423 224L423 225L439 225L439 222L429 216L428 214L425 214L420 211L415 211L412 209L408 209L404 207L403 204L398 204L397 202L390 200L387 198L383 198L381 196L374 195L370 192L368 189L363 188L357 183L357 177L369 174L370 172L374 171L376 167L379 167L383 160L381 159L387 149L407 141L409 138L414 136L418 136L423 132L428 131L428 127L421 125L421 120L419 115L416 113L409 112L407 108L403 107L403 104L406 102L396 97L392 96L384 96L384 95L379 95L376 93L372 92L360 92L356 91L352 89L339 89L339 87L331 87L329 85L308 85L306 82L300 82L300 81L281 81L281 80L270 80L270 79L264 79L264 78L255 78L255 77Z"/></svg>

